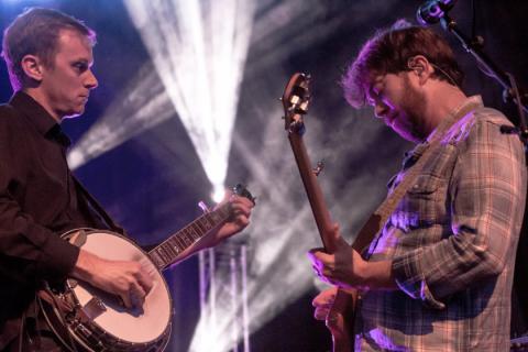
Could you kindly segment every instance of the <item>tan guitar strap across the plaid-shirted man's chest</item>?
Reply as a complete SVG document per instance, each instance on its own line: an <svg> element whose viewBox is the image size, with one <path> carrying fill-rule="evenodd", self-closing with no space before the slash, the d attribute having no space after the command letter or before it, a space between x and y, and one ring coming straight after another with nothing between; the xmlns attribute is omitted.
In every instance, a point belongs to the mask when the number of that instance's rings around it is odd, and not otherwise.
<svg viewBox="0 0 528 352"><path fill-rule="evenodd" d="M382 231L383 226L388 220L391 215L396 210L402 198L407 194L407 190L414 185L416 178L424 169L424 166L433 155L433 152L440 145L442 139L446 135L446 132L461 118L473 111L481 105L480 99L470 98L470 101L464 101L459 108L457 108L452 113L446 117L439 127L433 131L433 133L428 138L426 143L426 150L424 154L418 158L416 164L414 164L409 169L407 169L402 182L396 186L391 195L385 198L385 200L377 207L377 209L371 215L365 224L361 228L358 237L352 243L352 248L359 253L363 251L371 244L371 242L376 238L376 235Z"/></svg>

